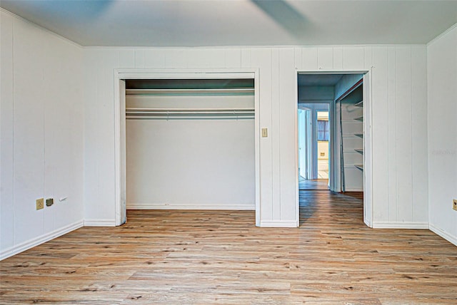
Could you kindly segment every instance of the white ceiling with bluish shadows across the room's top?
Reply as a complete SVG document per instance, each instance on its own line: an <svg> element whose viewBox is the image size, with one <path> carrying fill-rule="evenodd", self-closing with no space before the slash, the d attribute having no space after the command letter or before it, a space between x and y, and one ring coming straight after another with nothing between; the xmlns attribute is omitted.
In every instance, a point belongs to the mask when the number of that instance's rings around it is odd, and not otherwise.
<svg viewBox="0 0 457 305"><path fill-rule="evenodd" d="M0 6L82 46L427 43L457 23L457 0L1 0Z"/></svg>

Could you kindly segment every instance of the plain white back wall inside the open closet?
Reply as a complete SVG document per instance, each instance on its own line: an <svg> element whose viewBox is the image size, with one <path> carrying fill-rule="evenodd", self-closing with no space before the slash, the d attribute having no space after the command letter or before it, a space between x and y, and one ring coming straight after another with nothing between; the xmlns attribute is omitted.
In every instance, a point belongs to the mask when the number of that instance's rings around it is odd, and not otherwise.
<svg viewBox="0 0 457 305"><path fill-rule="evenodd" d="M253 95L127 96L127 108L254 108ZM128 209L255 210L254 119L126 121Z"/></svg>

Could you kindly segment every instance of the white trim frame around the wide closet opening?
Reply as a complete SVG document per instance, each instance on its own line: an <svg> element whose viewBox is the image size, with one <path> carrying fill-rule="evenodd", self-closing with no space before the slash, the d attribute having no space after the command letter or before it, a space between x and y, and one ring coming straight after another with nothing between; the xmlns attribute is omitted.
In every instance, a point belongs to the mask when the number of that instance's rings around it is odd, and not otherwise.
<svg viewBox="0 0 457 305"><path fill-rule="evenodd" d="M258 68L217 69L114 69L114 153L115 153L115 224L126 222L126 88L128 79L224 79L254 80L254 163L256 189L256 226L260 226L260 120Z"/></svg>

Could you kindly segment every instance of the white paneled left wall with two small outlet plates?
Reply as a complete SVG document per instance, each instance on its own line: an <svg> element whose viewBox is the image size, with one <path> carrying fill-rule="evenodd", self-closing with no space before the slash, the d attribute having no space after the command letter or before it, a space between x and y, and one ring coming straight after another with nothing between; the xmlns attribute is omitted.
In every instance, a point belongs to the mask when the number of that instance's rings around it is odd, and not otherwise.
<svg viewBox="0 0 457 305"><path fill-rule="evenodd" d="M2 259L83 225L84 140L82 49L0 14Z"/></svg>

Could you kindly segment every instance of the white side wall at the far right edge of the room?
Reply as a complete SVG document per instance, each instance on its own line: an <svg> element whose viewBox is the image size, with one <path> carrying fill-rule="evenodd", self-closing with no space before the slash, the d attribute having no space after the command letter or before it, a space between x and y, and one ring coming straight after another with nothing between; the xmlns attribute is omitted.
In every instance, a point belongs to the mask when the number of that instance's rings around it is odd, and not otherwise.
<svg viewBox="0 0 457 305"><path fill-rule="evenodd" d="M430 228L457 245L457 27L427 52Z"/></svg>

